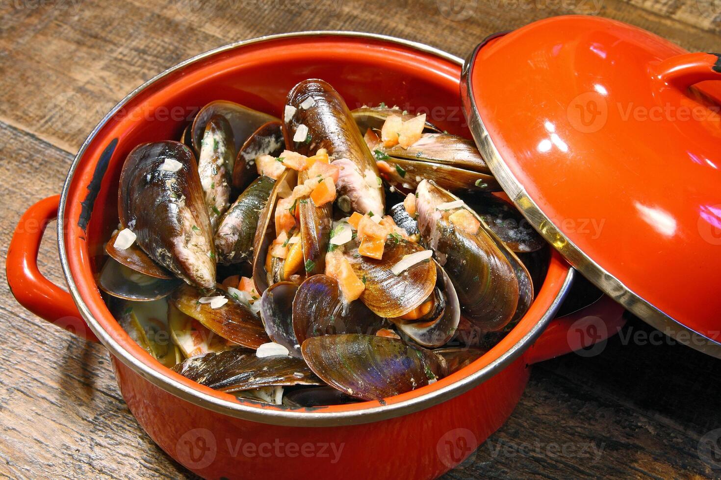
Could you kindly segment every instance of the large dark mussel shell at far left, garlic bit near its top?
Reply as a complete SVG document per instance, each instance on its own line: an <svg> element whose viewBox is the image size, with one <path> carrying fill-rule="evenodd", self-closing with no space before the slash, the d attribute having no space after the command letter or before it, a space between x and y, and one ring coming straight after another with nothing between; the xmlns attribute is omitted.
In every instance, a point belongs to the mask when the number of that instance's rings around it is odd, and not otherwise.
<svg viewBox="0 0 721 480"><path fill-rule="evenodd" d="M169 141L134 148L120 174L118 214L156 263L189 284L215 286L213 233L190 148Z"/></svg>

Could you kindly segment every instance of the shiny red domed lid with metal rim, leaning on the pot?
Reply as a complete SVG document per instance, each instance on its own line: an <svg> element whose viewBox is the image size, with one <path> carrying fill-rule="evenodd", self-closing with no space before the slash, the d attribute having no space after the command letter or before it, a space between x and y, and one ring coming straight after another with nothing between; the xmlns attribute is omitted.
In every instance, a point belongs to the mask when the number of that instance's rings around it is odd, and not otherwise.
<svg viewBox="0 0 721 480"><path fill-rule="evenodd" d="M721 60L599 17L487 39L461 94L536 230L624 307L721 358Z"/></svg>

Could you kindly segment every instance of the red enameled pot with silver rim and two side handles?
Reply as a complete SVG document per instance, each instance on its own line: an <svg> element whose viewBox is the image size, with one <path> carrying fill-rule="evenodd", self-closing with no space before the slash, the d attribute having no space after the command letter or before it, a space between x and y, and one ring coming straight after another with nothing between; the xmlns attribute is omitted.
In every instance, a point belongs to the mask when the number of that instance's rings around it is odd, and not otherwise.
<svg viewBox="0 0 721 480"><path fill-rule="evenodd" d="M305 409L239 400L169 371L118 325L94 273L102 245L118 224L118 177L125 156L138 143L179 137L209 101L233 100L280 116L296 82L324 78L352 108L385 101L425 109L435 112L433 122L441 128L469 136L459 96L461 65L460 58L440 50L390 37L306 32L235 43L170 68L98 124L76 156L62 194L23 215L6 263L14 296L45 320L105 344L120 391L143 429L201 476L420 479L443 474L503 425L521 397L529 365L585 346L579 332L588 325L601 332L588 343L622 325L622 308L606 297L553 320L574 273L555 251L526 316L472 365L384 402ZM24 227L44 227L56 216L69 294L37 269L43 228Z"/></svg>

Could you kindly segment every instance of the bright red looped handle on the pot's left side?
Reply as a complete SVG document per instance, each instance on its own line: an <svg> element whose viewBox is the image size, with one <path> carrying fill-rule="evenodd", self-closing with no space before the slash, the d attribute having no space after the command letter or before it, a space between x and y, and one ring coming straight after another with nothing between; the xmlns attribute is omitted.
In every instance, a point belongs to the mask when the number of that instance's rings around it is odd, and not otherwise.
<svg viewBox="0 0 721 480"><path fill-rule="evenodd" d="M38 201L20 217L7 251L7 283L17 302L38 317L85 340L97 342L72 296L40 273L37 252L48 222L58 217L60 195Z"/></svg>

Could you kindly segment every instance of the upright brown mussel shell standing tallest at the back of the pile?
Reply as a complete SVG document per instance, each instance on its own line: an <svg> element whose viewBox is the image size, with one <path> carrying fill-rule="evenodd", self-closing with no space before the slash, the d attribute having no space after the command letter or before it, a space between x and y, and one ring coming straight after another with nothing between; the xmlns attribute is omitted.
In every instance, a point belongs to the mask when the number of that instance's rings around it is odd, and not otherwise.
<svg viewBox="0 0 721 480"><path fill-rule="evenodd" d="M313 104L304 109L301 104L307 99L313 99ZM348 196L355 212L383 214L383 189L366 180L379 176L376 162L340 94L327 82L309 79L293 87L287 103L296 108L296 113L283 124L286 148L303 155L325 148L340 168L338 196ZM294 142L301 124L308 127L308 136L306 141Z"/></svg>

